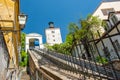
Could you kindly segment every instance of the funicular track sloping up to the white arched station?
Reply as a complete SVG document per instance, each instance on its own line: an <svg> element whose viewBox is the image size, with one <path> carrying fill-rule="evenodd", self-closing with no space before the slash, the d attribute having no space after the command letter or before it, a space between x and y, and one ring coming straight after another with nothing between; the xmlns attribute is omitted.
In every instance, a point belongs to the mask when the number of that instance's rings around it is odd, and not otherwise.
<svg viewBox="0 0 120 80"><path fill-rule="evenodd" d="M32 52L35 53L37 57L41 56L41 58L37 58L39 59L38 63L41 68L48 67L45 70L51 69L52 72L59 72L67 76L67 78L69 79L71 78L72 80L115 80L112 77L113 73L111 72L111 69L104 68L100 64L97 64L96 66L95 63L92 61L89 62L88 60L78 59L72 56L54 53L52 51L34 49ZM105 71L107 72L107 75ZM119 77L120 72L116 71L116 73ZM58 76L60 76L60 74Z"/></svg>

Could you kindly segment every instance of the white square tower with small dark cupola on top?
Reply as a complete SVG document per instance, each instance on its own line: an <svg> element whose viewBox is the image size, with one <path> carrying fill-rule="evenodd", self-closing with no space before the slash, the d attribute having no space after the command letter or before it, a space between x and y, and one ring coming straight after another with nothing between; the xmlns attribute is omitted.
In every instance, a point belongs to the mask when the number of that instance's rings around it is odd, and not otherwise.
<svg viewBox="0 0 120 80"><path fill-rule="evenodd" d="M60 28L55 28L53 22L49 22L49 28L45 29L46 43L49 45L62 43Z"/></svg>

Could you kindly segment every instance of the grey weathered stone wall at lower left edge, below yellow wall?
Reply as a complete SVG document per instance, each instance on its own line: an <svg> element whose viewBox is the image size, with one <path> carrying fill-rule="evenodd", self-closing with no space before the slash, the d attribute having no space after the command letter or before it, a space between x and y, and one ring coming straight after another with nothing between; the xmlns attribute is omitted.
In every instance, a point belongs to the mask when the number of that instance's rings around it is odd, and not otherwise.
<svg viewBox="0 0 120 80"><path fill-rule="evenodd" d="M9 54L4 42L3 35L0 33L0 80L6 80L8 64Z"/></svg>

